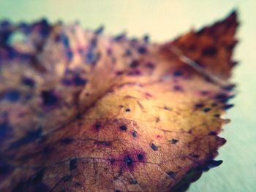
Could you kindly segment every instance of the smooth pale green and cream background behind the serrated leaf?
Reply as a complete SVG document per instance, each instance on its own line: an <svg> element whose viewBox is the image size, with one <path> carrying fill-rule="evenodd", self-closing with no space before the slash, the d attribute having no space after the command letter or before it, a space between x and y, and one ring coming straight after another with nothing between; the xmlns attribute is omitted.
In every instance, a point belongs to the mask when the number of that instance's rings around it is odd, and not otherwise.
<svg viewBox="0 0 256 192"><path fill-rule="evenodd" d="M199 28L222 18L237 8L241 40L235 58L240 61L233 76L238 83L236 104L226 115L232 123L225 126L222 137L227 144L217 159L224 163L203 174L189 192L256 191L256 0L183 0L183 1L64 1L0 0L0 18L14 21L35 20L46 16L50 21L79 20L82 26L97 28L105 24L108 34L121 31L141 37L148 33L154 41L177 37L189 28Z"/></svg>

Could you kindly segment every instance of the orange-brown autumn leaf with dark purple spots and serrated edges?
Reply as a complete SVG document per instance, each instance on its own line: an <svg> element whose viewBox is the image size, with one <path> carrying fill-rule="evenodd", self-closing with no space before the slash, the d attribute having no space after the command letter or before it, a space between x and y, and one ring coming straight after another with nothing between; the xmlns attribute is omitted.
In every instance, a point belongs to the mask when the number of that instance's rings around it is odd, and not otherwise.
<svg viewBox="0 0 256 192"><path fill-rule="evenodd" d="M236 12L208 28L216 26L236 41ZM232 107L232 49L197 45L202 35L218 40L213 32L188 37L205 61L195 67L171 49L189 57L180 39L158 45L78 25L31 28L29 41L12 45L15 55L0 52L0 191L184 191L222 163L213 158L225 143L220 116Z"/></svg>

